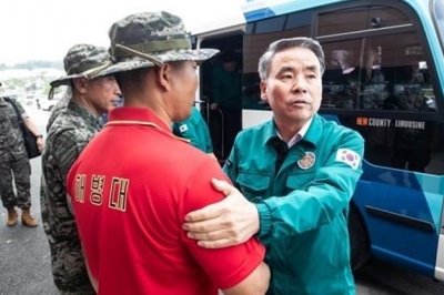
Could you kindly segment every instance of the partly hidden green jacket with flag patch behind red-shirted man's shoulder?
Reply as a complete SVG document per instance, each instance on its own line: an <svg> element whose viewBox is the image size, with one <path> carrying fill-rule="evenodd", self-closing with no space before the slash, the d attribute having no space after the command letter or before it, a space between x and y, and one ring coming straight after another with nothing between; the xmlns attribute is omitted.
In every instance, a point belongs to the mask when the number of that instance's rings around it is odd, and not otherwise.
<svg viewBox="0 0 444 295"><path fill-rule="evenodd" d="M174 135L189 140L193 146L204 153L213 152L210 131L198 109L192 109L189 119L173 123L172 129Z"/></svg>

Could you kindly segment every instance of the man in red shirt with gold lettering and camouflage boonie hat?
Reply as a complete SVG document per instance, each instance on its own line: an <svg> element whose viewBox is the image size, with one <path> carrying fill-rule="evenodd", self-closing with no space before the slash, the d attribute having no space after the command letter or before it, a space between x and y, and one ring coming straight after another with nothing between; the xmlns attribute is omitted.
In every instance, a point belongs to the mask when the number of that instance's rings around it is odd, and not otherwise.
<svg viewBox="0 0 444 295"><path fill-rule="evenodd" d="M176 16L129 16L110 29L124 106L72 165L67 187L99 294L264 294L270 271L256 240L205 250L182 230L186 213L221 201L218 163L175 138L190 116L196 67L216 50L191 50ZM213 182L215 182L213 180Z"/></svg>

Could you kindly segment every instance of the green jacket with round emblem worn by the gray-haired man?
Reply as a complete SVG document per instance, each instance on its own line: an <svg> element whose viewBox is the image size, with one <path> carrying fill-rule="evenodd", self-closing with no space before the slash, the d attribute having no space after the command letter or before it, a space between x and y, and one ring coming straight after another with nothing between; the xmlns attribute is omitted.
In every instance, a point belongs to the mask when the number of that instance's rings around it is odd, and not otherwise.
<svg viewBox="0 0 444 295"><path fill-rule="evenodd" d="M273 295L355 294L346 214L362 174L359 133L315 115L275 173L273 121L242 131L224 172L256 204Z"/></svg>

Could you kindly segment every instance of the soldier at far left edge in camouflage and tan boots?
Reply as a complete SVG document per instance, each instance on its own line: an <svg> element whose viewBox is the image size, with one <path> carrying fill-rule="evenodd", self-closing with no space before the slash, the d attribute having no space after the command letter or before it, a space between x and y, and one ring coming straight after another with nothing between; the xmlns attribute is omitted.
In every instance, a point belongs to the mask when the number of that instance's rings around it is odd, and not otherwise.
<svg viewBox="0 0 444 295"><path fill-rule="evenodd" d="M1 87L1 83L0 83ZM37 135L40 151L43 149L43 136L36 128L21 104L11 99L0 96L0 195L3 207L8 210L7 225L13 226L18 221L16 206L22 211L21 222L26 226L34 227L37 221L30 214L31 207L31 165L24 148L23 135L20 130L19 118L12 106L16 104L24 124ZM17 196L12 189L12 174L17 189Z"/></svg>

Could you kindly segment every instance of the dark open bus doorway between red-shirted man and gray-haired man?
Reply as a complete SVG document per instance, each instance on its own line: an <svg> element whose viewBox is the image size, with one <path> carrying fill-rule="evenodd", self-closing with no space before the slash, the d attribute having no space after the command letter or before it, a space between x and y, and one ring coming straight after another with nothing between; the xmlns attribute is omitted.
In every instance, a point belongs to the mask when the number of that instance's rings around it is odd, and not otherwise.
<svg viewBox="0 0 444 295"><path fill-rule="evenodd" d="M200 44L200 48L220 50L200 67L200 96L214 155L221 163L242 130L242 43L243 34L238 33L204 39Z"/></svg>

